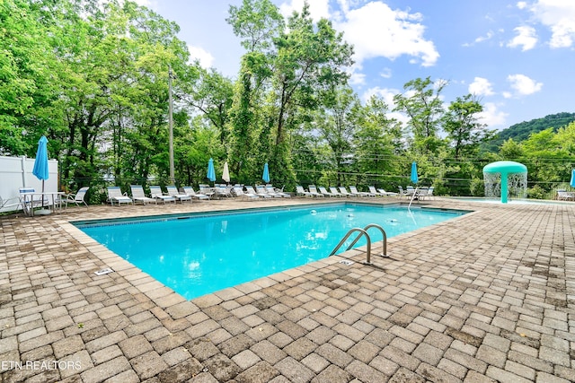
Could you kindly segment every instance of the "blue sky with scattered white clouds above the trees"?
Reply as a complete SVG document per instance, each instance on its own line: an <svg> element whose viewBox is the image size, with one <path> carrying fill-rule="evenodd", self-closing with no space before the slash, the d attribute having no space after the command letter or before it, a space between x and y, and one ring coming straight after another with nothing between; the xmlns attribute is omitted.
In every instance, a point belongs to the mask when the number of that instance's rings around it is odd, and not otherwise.
<svg viewBox="0 0 575 383"><path fill-rule="evenodd" d="M285 15L304 0L272 0ZM242 0L137 0L177 22L180 39L207 67L235 78L243 48L226 23ZM446 103L473 93L482 123L503 129L575 112L574 0L309 0L355 47L350 83L393 107L403 84L447 80ZM402 116L395 116L404 119Z"/></svg>

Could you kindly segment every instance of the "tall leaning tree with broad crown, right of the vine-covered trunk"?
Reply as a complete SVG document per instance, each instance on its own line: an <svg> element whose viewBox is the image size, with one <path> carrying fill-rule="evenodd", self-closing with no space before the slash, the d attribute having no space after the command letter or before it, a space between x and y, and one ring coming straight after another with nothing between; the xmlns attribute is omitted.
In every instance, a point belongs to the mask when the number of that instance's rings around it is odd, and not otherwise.
<svg viewBox="0 0 575 383"><path fill-rule="evenodd" d="M320 107L323 92L347 83L345 67L352 64L353 50L331 22L322 19L314 25L307 4L302 13L288 18L287 31L275 43L275 100L270 108L275 144L270 152L270 166L279 172L280 180L293 184L288 135L305 120L305 114Z"/></svg>

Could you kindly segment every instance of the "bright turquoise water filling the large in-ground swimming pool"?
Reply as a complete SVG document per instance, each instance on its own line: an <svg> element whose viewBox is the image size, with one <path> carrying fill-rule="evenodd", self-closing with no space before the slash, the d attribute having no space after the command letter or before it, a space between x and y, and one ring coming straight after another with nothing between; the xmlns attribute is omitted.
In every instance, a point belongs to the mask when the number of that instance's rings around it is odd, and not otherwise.
<svg viewBox="0 0 575 383"><path fill-rule="evenodd" d="M376 223L389 238L463 213L343 203L75 225L192 299L327 257L354 227ZM377 230L369 234L382 240Z"/></svg>

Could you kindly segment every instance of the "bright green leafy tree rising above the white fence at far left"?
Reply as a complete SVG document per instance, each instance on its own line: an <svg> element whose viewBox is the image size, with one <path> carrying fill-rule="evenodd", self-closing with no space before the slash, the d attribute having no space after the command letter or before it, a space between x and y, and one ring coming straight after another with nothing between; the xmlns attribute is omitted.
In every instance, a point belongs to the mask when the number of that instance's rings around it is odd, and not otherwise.
<svg viewBox="0 0 575 383"><path fill-rule="evenodd" d="M60 124L55 106L57 61L42 2L0 2L0 153L33 156L40 135ZM50 138L49 150L53 155Z"/></svg>

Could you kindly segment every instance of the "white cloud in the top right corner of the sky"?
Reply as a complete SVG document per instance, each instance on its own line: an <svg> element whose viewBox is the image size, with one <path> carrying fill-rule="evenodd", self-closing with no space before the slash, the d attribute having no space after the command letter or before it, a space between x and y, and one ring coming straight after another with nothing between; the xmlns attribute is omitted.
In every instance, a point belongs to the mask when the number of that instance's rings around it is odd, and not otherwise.
<svg viewBox="0 0 575 383"><path fill-rule="evenodd" d="M575 41L575 1L537 0L530 8L535 20L552 32L551 48L570 48Z"/></svg>

